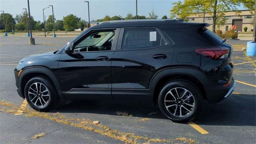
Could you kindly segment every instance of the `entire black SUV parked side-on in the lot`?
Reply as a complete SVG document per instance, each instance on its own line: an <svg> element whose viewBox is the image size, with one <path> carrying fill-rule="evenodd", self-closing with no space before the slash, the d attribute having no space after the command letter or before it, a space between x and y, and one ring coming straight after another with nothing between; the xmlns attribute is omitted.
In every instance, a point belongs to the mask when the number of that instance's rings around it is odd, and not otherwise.
<svg viewBox="0 0 256 144"><path fill-rule="evenodd" d="M60 100L152 102L175 122L192 120L203 99L219 102L235 86L232 47L179 20L121 20L88 28L56 52L23 58L18 94L35 110Z"/></svg>

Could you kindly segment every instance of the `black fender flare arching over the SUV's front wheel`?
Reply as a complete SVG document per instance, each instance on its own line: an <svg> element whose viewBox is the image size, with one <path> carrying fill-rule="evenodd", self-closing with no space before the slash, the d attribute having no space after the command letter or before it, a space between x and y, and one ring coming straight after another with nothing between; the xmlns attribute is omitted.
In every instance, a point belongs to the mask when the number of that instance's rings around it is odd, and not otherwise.
<svg viewBox="0 0 256 144"><path fill-rule="evenodd" d="M44 75L48 76L52 80L52 82L53 82L53 84L54 84L54 86L55 86L55 88L56 88L56 90L58 92L58 96L59 96L60 100L65 100L65 98L64 98L64 96L63 96L63 94L61 92L58 79L56 78L54 73L50 69L48 69L46 67L33 66L33 67L28 67L28 68L25 68L24 70L22 70L22 73L20 74L19 81L18 81L18 87L19 88L22 87L22 80L23 80L23 78L27 74L32 74L32 73L41 73L41 74L44 74Z"/></svg>

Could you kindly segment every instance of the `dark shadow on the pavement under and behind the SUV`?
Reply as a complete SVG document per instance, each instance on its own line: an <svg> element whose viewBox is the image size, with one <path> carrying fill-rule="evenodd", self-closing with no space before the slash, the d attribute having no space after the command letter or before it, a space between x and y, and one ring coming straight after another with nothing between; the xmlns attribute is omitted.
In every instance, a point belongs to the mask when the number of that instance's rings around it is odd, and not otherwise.
<svg viewBox="0 0 256 144"><path fill-rule="evenodd" d="M51 112L108 115L126 112L134 117L167 119L158 106L138 102L78 100L60 104ZM222 102L205 103L193 121L199 125L256 126L256 95L232 94Z"/></svg>

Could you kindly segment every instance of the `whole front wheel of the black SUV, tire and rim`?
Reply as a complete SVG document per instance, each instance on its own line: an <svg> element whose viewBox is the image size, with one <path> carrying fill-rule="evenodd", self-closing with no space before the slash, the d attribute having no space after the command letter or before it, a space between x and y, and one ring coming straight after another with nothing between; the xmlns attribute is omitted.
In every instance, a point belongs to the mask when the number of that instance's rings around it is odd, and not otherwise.
<svg viewBox="0 0 256 144"><path fill-rule="evenodd" d="M38 111L50 110L58 102L54 85L45 76L36 76L28 80L24 93L28 104Z"/></svg>

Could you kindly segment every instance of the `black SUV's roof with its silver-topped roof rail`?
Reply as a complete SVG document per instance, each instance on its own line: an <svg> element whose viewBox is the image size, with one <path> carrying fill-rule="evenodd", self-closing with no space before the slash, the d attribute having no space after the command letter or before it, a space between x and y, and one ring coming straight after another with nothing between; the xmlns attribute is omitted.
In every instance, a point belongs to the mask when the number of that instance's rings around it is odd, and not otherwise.
<svg viewBox="0 0 256 144"><path fill-rule="evenodd" d="M186 28L186 22L182 20L114 20L101 22L91 27L94 28L122 28L122 27L156 27L156 28Z"/></svg>

